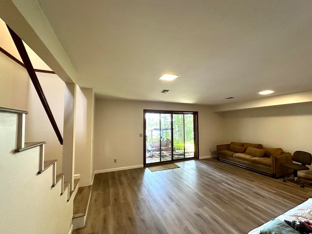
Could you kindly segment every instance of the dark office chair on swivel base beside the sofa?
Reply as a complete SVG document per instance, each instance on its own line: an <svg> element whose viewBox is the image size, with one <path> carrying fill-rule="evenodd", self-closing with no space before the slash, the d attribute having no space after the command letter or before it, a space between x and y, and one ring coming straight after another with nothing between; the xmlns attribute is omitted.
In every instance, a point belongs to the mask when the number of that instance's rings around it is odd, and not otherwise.
<svg viewBox="0 0 312 234"><path fill-rule="evenodd" d="M311 181L298 178L298 171L309 170L309 167L307 167L306 165L311 165L311 163L312 163L311 154L308 152L304 152L304 151L296 151L292 155L292 161L299 162L301 164L286 163L286 162L281 163L282 166L290 168L293 170L293 177L287 177L287 178L285 177L283 179L283 181L286 182L286 180L293 180L294 182L299 183L300 187L302 187L302 188L304 188L303 181L310 182L310 184L311 184Z"/></svg>

